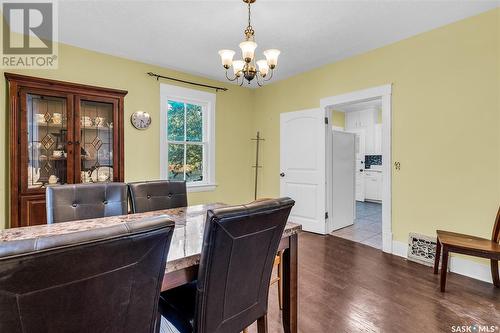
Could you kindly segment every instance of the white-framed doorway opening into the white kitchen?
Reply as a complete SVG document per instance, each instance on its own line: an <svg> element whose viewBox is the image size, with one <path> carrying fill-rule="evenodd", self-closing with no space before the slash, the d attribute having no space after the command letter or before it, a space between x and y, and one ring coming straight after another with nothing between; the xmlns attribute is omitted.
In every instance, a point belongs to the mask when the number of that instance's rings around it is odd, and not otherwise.
<svg viewBox="0 0 500 333"><path fill-rule="evenodd" d="M327 232L392 252L391 85L321 99L331 124L326 133ZM338 113L341 114L338 114ZM337 113L337 114L336 114ZM339 121L340 119L340 121ZM353 221L338 223L334 192L335 132L355 137ZM338 176L337 176L338 177Z"/></svg>

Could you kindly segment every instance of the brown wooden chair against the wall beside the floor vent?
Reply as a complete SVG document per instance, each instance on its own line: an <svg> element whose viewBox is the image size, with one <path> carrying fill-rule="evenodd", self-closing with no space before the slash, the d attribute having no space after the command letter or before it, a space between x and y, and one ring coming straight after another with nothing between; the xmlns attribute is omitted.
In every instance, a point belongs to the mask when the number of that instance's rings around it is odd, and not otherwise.
<svg viewBox="0 0 500 333"><path fill-rule="evenodd" d="M448 257L450 252L490 259L493 284L495 287L500 287L500 277L498 275L498 261L500 260L500 207L495 219L491 240L450 231L437 230L436 233L437 244L434 274L438 273L442 247L441 292L444 292L446 287L446 273L448 270Z"/></svg>

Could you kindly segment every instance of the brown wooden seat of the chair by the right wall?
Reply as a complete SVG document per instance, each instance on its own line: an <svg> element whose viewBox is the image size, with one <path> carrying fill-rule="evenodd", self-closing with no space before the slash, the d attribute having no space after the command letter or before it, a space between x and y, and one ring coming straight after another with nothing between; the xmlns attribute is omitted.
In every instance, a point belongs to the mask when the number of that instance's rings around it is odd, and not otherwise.
<svg viewBox="0 0 500 333"><path fill-rule="evenodd" d="M484 253L500 253L500 244L490 239L443 230L437 231L437 237L443 245Z"/></svg>

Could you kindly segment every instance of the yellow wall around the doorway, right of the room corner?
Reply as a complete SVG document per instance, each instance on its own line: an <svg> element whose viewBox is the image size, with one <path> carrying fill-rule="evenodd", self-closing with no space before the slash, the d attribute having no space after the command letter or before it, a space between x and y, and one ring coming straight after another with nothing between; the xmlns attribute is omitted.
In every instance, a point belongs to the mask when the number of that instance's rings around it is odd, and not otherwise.
<svg viewBox="0 0 500 333"><path fill-rule="evenodd" d="M401 163L394 238L437 228L489 237L500 203L499 16L496 9L258 89L262 195L279 195L281 112L392 83L392 153Z"/></svg>

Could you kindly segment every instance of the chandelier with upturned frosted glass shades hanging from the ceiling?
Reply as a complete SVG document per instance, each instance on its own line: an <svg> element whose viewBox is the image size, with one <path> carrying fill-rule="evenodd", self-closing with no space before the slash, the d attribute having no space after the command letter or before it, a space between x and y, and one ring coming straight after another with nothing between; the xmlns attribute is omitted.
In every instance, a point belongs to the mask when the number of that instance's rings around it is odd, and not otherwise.
<svg viewBox="0 0 500 333"><path fill-rule="evenodd" d="M255 31L251 24L250 5L256 0L243 0L248 5L248 26L245 29L245 40L240 43L241 54L243 60L234 60L235 52L233 50L220 50L219 55L222 60L222 66L226 69L226 78L229 81L236 81L240 86L245 80L250 84L253 79L256 79L257 84L262 86L264 81L269 81L273 77L274 68L278 64L278 56L280 51L269 49L264 51L266 59L255 61ZM233 67L232 76L228 75L229 68Z"/></svg>

